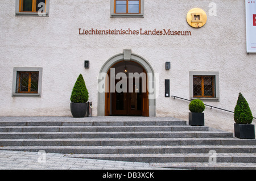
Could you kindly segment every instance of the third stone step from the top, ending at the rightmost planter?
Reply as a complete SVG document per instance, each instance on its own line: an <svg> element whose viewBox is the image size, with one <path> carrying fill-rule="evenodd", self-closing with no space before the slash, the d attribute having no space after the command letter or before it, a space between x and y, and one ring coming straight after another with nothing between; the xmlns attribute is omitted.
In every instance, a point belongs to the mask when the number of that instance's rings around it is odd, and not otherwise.
<svg viewBox="0 0 256 181"><path fill-rule="evenodd" d="M232 133L181 131L181 132L3 132L0 139L15 138L212 138L231 137Z"/></svg>

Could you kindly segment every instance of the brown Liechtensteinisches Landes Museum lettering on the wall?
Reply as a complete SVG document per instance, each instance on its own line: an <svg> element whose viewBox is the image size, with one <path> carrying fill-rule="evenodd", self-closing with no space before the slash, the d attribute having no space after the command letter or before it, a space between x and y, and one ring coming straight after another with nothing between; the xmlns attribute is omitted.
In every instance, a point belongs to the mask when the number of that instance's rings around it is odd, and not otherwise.
<svg viewBox="0 0 256 181"><path fill-rule="evenodd" d="M191 36L191 31L172 31L170 29L163 30L143 30L140 28L139 30L131 30L128 29L114 29L114 30L98 30L91 28L89 30L85 30L79 28L79 35L181 35L181 36Z"/></svg>

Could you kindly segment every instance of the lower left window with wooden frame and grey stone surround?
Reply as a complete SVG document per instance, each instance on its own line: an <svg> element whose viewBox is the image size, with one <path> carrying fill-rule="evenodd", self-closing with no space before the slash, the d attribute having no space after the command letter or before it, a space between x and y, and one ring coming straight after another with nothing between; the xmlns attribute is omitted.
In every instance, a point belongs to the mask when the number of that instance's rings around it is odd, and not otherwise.
<svg viewBox="0 0 256 181"><path fill-rule="evenodd" d="M41 96L42 68L14 68L13 96Z"/></svg>

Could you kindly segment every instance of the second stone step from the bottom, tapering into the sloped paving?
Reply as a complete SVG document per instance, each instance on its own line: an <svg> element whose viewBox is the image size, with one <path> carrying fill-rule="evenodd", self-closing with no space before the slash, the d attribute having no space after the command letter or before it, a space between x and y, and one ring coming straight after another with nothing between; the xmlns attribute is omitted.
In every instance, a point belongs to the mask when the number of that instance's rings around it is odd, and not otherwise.
<svg viewBox="0 0 256 181"><path fill-rule="evenodd" d="M91 154L69 154L68 157L73 158L90 158ZM97 154L97 159L115 160L115 161L136 161L154 163L154 167L166 167L165 163L209 163L209 154L203 153L169 153L169 154ZM246 153L218 153L216 163L254 163L256 162L256 154ZM157 165L157 163L159 163ZM213 163L215 164L215 163ZM253 165L253 164L251 164Z"/></svg>

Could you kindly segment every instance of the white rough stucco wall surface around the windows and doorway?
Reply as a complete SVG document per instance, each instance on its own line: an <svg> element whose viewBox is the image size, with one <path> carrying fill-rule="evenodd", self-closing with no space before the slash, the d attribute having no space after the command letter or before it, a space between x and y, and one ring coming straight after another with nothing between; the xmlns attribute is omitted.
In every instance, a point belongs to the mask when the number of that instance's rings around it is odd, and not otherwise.
<svg viewBox="0 0 256 181"><path fill-rule="evenodd" d="M71 116L70 95L78 75L84 76L97 116L97 75L112 56L131 49L159 73L156 116L188 120L184 100L164 97L164 79L171 95L189 99L189 71L218 71L220 102L205 102L233 111L242 92L256 116L256 54L246 53L245 1L215 0L217 16L209 16L209 3L199 0L145 0L144 18L110 18L110 0L51 0L49 17L15 16L15 1L0 4L0 116ZM187 12L207 12L204 27L190 27ZM192 36L79 35L90 30L191 31ZM90 68L84 68L84 60ZM165 70L164 63L171 62ZM14 67L42 67L41 98L11 96ZM206 108L205 124L233 131L233 114ZM255 120L254 120L255 124Z"/></svg>

